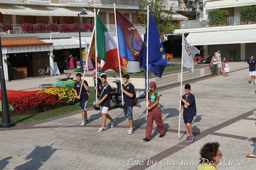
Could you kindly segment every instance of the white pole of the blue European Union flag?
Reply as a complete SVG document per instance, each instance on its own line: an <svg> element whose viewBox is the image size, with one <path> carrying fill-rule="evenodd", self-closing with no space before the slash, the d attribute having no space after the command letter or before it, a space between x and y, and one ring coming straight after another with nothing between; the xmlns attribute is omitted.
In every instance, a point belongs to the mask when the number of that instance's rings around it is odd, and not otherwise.
<svg viewBox="0 0 256 170"><path fill-rule="evenodd" d="M149 89L149 6L147 8L147 26L146 26L146 90ZM149 93L146 93L146 107L149 106ZM149 111L146 110L146 115Z"/></svg>

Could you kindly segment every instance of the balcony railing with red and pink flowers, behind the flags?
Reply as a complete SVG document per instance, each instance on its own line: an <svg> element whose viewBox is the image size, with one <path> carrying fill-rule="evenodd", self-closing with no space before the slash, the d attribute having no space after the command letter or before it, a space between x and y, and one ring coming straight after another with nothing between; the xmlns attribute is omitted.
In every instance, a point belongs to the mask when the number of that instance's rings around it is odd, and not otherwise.
<svg viewBox="0 0 256 170"><path fill-rule="evenodd" d="M22 30L21 29L21 24L13 24L13 30L10 30L9 33L11 34L25 34L25 33L53 33L53 32L60 32L60 30ZM105 24L105 26L110 30L110 32L115 32L117 29L115 27L115 24ZM134 24L134 27L139 31L139 32L145 32L145 28L140 25L140 24ZM68 30L62 33L78 33L78 30ZM92 32L92 30L81 30L81 32Z"/></svg>

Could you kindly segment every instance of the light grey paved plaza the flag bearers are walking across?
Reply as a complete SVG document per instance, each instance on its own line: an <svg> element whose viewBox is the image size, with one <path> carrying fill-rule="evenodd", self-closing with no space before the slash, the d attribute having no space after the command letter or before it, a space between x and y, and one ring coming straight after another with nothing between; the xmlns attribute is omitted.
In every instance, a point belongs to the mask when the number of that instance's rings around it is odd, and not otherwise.
<svg viewBox="0 0 256 170"><path fill-rule="evenodd" d="M199 151L206 142L220 143L223 159L218 169L255 169L256 159L245 154L252 152L256 137L256 117L252 115L256 110L256 85L250 85L246 62L229 65L230 77L190 82L197 106L193 143L183 142L183 118L178 137L180 86L171 86L160 90L164 137L159 137L154 123L151 141L142 140L146 129L145 101L134 107L137 130L133 135L128 135L129 124L122 108L109 111L117 125L101 134L97 133L102 124L101 113L90 109L89 123L84 127L80 126L82 115L76 112L0 129L0 169L197 169ZM32 91L57 78L65 75L9 81L6 88Z"/></svg>

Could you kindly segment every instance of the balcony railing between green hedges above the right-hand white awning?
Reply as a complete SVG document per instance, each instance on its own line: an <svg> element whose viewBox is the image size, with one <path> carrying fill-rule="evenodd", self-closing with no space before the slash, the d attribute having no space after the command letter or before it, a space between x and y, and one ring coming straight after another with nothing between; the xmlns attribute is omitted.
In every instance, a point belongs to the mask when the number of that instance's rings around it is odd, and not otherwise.
<svg viewBox="0 0 256 170"><path fill-rule="evenodd" d="M201 28L201 27L208 27L210 26L208 20L188 20L188 21L181 21L181 28ZM228 17L227 21L228 26L240 25L240 16L232 16Z"/></svg>

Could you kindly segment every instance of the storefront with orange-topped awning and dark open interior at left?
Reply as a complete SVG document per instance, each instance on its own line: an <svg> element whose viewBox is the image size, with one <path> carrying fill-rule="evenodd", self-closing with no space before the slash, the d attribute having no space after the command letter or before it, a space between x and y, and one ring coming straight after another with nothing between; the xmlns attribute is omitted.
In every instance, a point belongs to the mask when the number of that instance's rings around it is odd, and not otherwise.
<svg viewBox="0 0 256 170"><path fill-rule="evenodd" d="M38 69L53 67L53 43L38 39L1 40L6 81L38 77Z"/></svg>

